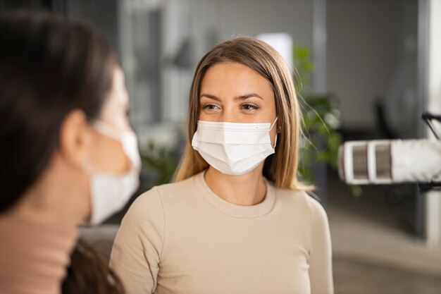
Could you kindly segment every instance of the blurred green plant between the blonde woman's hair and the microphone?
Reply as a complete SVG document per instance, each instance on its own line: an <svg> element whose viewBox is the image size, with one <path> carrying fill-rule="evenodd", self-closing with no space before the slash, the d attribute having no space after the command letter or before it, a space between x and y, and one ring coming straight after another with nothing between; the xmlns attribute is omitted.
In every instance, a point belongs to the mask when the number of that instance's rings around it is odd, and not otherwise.
<svg viewBox="0 0 441 294"><path fill-rule="evenodd" d="M338 147L342 144L340 111L335 99L326 94L314 94L308 87L314 70L309 49L294 47L294 85L302 108L304 136L300 144L299 178L325 192L326 168L337 169ZM321 175L321 180L318 177ZM323 183L324 181L324 183ZM320 191L321 190L321 191Z"/></svg>

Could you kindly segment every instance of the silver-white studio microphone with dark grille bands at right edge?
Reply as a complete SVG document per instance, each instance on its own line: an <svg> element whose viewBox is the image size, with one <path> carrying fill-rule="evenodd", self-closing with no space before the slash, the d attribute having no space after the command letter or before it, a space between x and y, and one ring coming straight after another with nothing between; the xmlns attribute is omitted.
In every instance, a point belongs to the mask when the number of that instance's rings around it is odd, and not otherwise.
<svg viewBox="0 0 441 294"><path fill-rule="evenodd" d="M441 142L372 140L339 148L338 173L354 185L435 183L441 181Z"/></svg>

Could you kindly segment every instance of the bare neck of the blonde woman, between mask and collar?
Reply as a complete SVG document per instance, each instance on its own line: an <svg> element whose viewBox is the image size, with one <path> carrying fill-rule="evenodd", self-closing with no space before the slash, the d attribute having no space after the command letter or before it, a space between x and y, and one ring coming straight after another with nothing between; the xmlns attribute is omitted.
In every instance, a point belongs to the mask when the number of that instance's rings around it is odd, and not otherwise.
<svg viewBox="0 0 441 294"><path fill-rule="evenodd" d="M241 176L230 176L209 167L205 181L218 197L237 205L259 204L265 199L266 183L262 176L263 163Z"/></svg>

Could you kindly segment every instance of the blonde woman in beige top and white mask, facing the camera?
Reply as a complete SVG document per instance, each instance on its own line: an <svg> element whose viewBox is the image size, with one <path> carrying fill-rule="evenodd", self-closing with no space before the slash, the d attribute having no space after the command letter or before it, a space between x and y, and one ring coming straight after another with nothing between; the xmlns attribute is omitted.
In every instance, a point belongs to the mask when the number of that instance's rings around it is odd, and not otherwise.
<svg viewBox="0 0 441 294"><path fill-rule="evenodd" d="M239 37L211 49L175 183L138 197L113 245L128 293L333 293L328 219L296 178L299 133L272 47Z"/></svg>

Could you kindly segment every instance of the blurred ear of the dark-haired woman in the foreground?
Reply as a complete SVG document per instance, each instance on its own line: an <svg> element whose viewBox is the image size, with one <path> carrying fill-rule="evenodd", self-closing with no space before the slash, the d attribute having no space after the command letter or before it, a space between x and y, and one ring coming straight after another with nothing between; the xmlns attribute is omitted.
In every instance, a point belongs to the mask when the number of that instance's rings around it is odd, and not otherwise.
<svg viewBox="0 0 441 294"><path fill-rule="evenodd" d="M92 142L87 118L84 111L71 111L63 120L60 128L58 152L66 163L77 169L82 168L82 162L87 156Z"/></svg>

